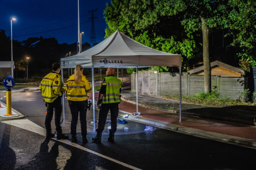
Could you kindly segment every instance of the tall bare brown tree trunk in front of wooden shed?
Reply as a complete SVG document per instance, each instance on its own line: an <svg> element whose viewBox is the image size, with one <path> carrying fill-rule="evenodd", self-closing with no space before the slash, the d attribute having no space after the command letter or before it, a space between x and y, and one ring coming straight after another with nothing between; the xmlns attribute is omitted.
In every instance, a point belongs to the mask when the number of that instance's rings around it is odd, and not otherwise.
<svg viewBox="0 0 256 170"><path fill-rule="evenodd" d="M203 62L204 62L204 92L211 92L211 65L209 58L209 28L205 24L205 18L201 17L203 33Z"/></svg>

